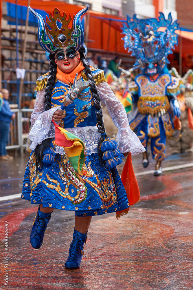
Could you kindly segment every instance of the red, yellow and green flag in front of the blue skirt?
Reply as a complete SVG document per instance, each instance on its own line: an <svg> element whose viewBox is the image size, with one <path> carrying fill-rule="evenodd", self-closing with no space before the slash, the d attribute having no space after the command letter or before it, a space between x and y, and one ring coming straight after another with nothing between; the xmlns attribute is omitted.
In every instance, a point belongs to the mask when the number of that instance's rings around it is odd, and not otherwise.
<svg viewBox="0 0 193 290"><path fill-rule="evenodd" d="M61 128L53 120L52 122L55 126L54 144L64 148L72 167L80 174L85 160L84 142L74 134Z"/></svg>

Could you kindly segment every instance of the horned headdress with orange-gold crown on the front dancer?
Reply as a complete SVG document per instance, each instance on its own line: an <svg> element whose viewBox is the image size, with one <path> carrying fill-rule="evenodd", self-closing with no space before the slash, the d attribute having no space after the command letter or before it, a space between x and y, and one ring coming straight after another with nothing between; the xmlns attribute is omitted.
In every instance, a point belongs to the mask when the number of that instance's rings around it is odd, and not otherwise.
<svg viewBox="0 0 193 290"><path fill-rule="evenodd" d="M40 14L29 7L30 12L38 19L38 41L41 47L49 52L54 53L58 48L73 47L75 50L79 50L84 44L84 32L82 29L80 18L89 10L89 5L80 10L74 17L72 28L68 28L70 21L72 20L69 14L60 11L55 8L49 14L49 18L46 16L45 20Z"/></svg>

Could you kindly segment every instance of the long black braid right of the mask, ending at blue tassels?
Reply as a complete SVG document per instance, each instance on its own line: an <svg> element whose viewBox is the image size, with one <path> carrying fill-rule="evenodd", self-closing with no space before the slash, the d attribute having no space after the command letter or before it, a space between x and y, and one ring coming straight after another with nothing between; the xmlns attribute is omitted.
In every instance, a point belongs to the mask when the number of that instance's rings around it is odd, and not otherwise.
<svg viewBox="0 0 193 290"><path fill-rule="evenodd" d="M105 128L104 128L104 123L103 123L103 118L102 118L102 108L101 108L101 103L100 103L100 96L99 96L99 92L97 90L95 81L93 79L92 73L91 73L91 68L89 66L89 62L87 60L87 55L85 53L85 48L82 46L79 49L79 53L80 53L80 60L82 61L82 64L84 66L84 70L85 73L89 79L89 84L90 84L90 89L92 92L92 96L93 96L93 100L94 100L94 105L95 105L95 113L96 113L96 117L97 117L97 127L98 127L98 132L101 135L100 140L98 142L98 157L99 157L99 161L102 163L102 154L103 152L100 149L100 145L101 143L104 141L104 139L106 138L106 132L105 132Z"/></svg>

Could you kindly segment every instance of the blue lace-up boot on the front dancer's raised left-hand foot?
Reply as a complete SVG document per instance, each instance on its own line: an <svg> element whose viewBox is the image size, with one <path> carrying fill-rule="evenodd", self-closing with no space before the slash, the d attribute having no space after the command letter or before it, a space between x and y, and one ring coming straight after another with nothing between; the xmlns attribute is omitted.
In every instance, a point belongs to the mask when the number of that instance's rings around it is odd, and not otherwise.
<svg viewBox="0 0 193 290"><path fill-rule="evenodd" d="M30 243L34 249L39 249L43 243L44 233L51 218L51 214L52 213L43 213L40 211L40 207L38 208L30 235Z"/></svg>

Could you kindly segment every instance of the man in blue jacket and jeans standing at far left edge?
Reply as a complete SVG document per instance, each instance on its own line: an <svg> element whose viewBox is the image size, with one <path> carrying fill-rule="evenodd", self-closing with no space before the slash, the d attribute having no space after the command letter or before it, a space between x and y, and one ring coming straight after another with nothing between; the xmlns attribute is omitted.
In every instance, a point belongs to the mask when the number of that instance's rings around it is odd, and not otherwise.
<svg viewBox="0 0 193 290"><path fill-rule="evenodd" d="M12 113L9 107L9 92L6 89L1 89L3 96L3 104L0 110L0 160L11 160L12 156L7 154L5 146L8 142L8 134L11 119L15 118L15 113Z"/></svg>

